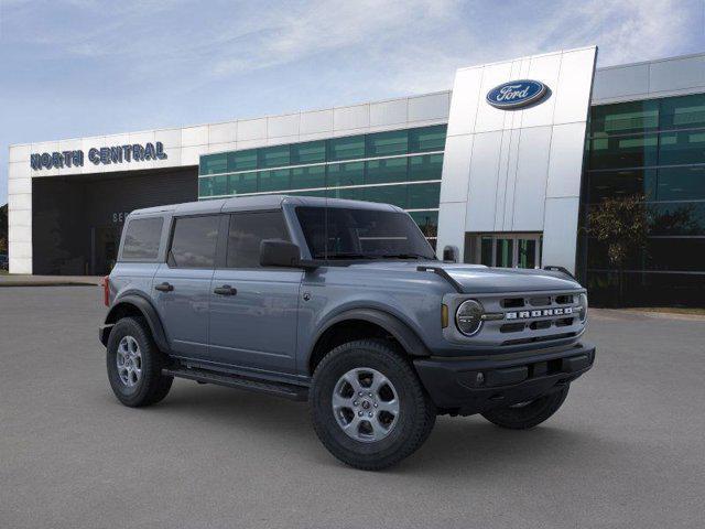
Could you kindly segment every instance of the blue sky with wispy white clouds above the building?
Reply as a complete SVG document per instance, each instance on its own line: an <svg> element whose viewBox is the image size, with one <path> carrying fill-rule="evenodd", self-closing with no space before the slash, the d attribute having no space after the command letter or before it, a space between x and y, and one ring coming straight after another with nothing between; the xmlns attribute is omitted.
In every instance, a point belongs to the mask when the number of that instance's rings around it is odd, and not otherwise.
<svg viewBox="0 0 705 529"><path fill-rule="evenodd" d="M703 0L0 0L8 145L451 88L455 68L599 46L598 66L705 51Z"/></svg>

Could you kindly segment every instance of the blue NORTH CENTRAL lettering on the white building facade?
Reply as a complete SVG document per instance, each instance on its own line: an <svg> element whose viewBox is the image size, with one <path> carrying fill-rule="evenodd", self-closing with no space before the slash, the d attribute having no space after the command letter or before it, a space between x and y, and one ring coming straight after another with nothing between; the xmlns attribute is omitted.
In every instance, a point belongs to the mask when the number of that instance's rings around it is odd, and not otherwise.
<svg viewBox="0 0 705 529"><path fill-rule="evenodd" d="M155 143L132 143L129 145L100 147L88 150L88 161L94 165L111 163L145 162L165 160L166 153L161 141ZM82 168L85 154L83 150L42 152L30 155L30 165L34 171L42 169Z"/></svg>

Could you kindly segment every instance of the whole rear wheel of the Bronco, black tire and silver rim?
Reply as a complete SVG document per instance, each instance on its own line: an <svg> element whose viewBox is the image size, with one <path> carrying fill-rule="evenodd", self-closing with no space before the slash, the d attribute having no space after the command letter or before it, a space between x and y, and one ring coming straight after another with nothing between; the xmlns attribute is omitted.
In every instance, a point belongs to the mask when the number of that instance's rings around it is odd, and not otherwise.
<svg viewBox="0 0 705 529"><path fill-rule="evenodd" d="M108 380L120 402L149 406L164 399L174 380L162 375L164 355L142 319L123 317L115 324L107 347Z"/></svg>

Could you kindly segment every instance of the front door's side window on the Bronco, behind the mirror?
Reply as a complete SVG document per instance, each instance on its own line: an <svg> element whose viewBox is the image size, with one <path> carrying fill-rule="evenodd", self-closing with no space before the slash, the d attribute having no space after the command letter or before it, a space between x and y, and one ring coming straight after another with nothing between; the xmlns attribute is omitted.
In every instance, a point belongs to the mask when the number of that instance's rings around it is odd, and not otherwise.
<svg viewBox="0 0 705 529"><path fill-rule="evenodd" d="M228 268L259 268L262 239L289 240L282 212L231 215L226 266Z"/></svg>

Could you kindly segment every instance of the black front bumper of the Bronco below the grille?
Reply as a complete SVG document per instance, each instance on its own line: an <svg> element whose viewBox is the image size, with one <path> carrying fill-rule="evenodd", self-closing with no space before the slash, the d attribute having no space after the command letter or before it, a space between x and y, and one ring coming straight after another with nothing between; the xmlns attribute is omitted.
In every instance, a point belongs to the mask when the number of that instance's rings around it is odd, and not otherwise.
<svg viewBox="0 0 705 529"><path fill-rule="evenodd" d="M416 373L441 412L470 415L556 391L595 363L595 346L575 344L479 358L427 357Z"/></svg>

